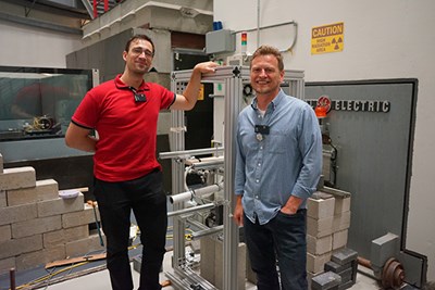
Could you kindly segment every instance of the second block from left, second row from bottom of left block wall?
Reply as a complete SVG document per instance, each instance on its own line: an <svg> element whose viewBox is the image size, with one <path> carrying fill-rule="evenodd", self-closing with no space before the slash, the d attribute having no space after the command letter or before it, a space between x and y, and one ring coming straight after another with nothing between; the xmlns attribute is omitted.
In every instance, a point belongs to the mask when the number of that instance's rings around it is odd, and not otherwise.
<svg viewBox="0 0 435 290"><path fill-rule="evenodd" d="M89 227L87 225L54 230L42 235L44 248L55 248L59 244L65 244L67 242L82 240L88 237Z"/></svg>

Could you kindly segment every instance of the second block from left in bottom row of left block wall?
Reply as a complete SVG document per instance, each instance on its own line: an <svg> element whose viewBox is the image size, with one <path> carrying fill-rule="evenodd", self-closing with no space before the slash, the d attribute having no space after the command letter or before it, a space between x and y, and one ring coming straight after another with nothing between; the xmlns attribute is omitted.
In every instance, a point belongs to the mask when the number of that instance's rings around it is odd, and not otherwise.
<svg viewBox="0 0 435 290"><path fill-rule="evenodd" d="M58 260L66 259L65 247L60 244L55 248L25 253L16 256L16 269L34 268Z"/></svg>

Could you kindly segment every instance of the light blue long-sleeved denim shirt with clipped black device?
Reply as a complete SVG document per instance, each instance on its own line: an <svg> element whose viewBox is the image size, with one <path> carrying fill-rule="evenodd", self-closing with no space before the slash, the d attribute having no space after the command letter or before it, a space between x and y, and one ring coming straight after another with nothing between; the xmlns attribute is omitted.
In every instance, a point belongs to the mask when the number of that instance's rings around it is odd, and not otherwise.
<svg viewBox="0 0 435 290"><path fill-rule="evenodd" d="M258 137L256 125L270 127ZM262 139L262 140L261 140ZM238 117L235 193L243 194L244 212L261 225L271 220L291 194L303 200L315 191L322 172L322 135L314 110L279 91L264 116L257 99Z"/></svg>

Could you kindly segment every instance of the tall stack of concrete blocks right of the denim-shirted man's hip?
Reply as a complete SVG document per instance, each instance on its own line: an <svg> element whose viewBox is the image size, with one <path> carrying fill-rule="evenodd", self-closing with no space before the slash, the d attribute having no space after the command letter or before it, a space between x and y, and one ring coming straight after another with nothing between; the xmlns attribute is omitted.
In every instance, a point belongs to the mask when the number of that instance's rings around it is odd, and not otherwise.
<svg viewBox="0 0 435 290"><path fill-rule="evenodd" d="M324 272L332 254L347 245L350 193L321 188L307 202L307 272L311 279Z"/></svg>

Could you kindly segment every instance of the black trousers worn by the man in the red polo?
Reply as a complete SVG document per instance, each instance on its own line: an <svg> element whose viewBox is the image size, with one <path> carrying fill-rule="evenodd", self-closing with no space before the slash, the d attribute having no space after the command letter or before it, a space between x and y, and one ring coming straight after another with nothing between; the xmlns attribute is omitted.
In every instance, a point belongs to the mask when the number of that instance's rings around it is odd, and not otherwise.
<svg viewBox="0 0 435 290"><path fill-rule="evenodd" d="M132 290L128 259L130 211L140 229L142 264L139 290L160 290L159 273L165 253L167 209L162 173L141 178L107 182L95 179L95 196L107 238L107 265L113 290Z"/></svg>

